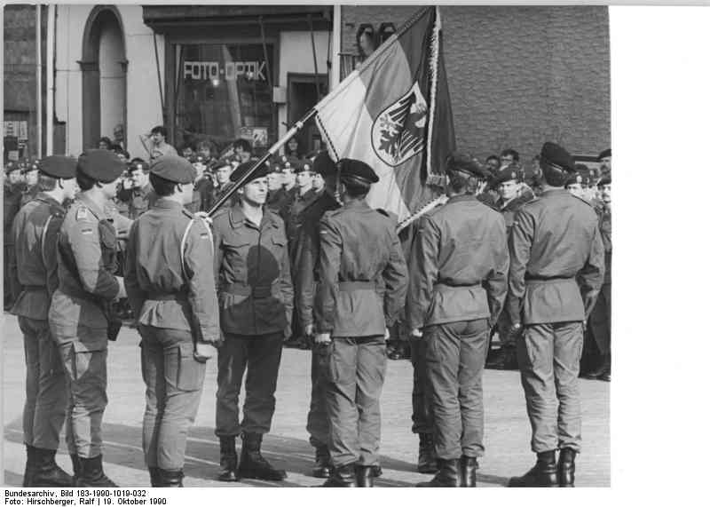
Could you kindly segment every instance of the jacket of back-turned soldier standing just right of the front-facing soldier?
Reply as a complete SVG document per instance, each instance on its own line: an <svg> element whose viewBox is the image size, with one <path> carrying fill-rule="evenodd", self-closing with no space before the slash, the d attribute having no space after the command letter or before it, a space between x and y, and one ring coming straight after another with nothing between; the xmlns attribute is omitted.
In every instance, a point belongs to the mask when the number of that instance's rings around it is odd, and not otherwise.
<svg viewBox="0 0 710 507"><path fill-rule="evenodd" d="M394 323L408 279L396 226L364 200L323 215L313 309L318 332L367 337Z"/></svg>

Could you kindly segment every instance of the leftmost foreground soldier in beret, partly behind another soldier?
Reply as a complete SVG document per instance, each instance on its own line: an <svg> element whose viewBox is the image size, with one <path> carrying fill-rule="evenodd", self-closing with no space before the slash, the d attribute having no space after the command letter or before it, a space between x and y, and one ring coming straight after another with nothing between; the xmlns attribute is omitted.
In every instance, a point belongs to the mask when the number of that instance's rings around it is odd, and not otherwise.
<svg viewBox="0 0 710 507"><path fill-rule="evenodd" d="M15 246L11 273L17 315L25 342L26 400L22 417L28 460L23 487L71 487L72 477L54 456L67 410L64 369L50 336L47 313L57 288L57 234L64 202L74 198L76 159L49 156L38 164L38 194L22 207L12 225Z"/></svg>

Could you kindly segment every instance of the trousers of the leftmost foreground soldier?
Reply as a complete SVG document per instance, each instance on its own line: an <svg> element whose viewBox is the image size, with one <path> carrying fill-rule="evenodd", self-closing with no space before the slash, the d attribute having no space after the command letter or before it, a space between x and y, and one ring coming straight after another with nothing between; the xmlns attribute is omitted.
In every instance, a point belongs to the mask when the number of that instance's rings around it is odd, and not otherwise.
<svg viewBox="0 0 710 507"><path fill-rule="evenodd" d="M25 408L22 429L25 443L36 448L59 448L59 432L67 416L67 381L49 322L18 317L24 336Z"/></svg>

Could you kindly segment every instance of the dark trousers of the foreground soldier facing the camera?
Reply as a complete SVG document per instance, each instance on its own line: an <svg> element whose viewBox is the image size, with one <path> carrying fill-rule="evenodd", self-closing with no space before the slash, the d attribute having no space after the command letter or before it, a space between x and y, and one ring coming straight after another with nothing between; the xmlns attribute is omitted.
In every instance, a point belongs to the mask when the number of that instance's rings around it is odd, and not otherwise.
<svg viewBox="0 0 710 507"><path fill-rule="evenodd" d="M217 437L271 430L283 336L282 331L258 336L225 334L225 343L217 354ZM246 395L240 422L239 395L245 370Z"/></svg>

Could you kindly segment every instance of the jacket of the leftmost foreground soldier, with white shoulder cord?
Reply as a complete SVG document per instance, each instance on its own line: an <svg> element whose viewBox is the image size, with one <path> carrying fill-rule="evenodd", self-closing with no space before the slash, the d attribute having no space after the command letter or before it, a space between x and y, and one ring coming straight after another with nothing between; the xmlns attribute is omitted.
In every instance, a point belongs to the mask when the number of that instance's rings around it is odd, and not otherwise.
<svg viewBox="0 0 710 507"><path fill-rule="evenodd" d="M22 207L12 224L11 259L15 304L12 313L46 321L57 289L57 235L66 210L43 192ZM14 261L14 262L12 262Z"/></svg>

